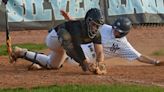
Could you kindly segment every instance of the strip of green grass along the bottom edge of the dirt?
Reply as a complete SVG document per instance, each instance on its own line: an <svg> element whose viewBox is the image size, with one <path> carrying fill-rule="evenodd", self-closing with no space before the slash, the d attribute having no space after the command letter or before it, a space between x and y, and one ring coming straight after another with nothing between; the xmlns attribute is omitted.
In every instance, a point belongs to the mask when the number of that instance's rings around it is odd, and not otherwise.
<svg viewBox="0 0 164 92"><path fill-rule="evenodd" d="M164 92L164 88L140 85L54 85L30 89L1 89L0 92Z"/></svg>

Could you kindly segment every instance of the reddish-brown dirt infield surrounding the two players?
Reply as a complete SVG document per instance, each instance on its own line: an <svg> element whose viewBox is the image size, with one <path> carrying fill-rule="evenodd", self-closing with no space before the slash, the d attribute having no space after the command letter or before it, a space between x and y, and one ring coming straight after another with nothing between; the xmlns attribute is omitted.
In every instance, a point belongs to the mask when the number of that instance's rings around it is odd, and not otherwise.
<svg viewBox="0 0 164 92"><path fill-rule="evenodd" d="M128 35L131 44L142 54L164 61L164 56L152 53L164 49L164 27L141 27L133 29ZM0 33L0 44L5 43L5 33ZM43 43L47 31L11 32L12 43ZM47 52L47 50L43 51ZM31 64L18 60L9 64L8 57L0 56L0 88L35 87L55 84L111 84L135 83L164 86L164 66L152 66L137 61L127 62L120 58L106 60L108 74L93 75L84 73L77 65L66 62L60 70L28 71Z"/></svg>

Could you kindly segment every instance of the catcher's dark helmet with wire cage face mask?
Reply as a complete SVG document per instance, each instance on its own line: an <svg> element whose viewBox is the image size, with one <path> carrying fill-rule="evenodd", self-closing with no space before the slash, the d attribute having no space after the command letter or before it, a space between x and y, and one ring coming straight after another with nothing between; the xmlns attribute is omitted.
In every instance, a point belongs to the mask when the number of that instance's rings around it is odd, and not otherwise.
<svg viewBox="0 0 164 92"><path fill-rule="evenodd" d="M85 15L85 22L88 28L88 36L94 38L97 34L97 30L104 24L104 19L101 11L97 8L91 8ZM96 27L96 31L92 30L92 27Z"/></svg>

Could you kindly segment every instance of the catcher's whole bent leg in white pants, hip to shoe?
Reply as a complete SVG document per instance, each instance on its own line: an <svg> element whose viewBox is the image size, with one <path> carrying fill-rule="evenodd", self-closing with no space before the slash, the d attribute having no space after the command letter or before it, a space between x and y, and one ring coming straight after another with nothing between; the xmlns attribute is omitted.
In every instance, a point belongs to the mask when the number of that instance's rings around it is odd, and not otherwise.
<svg viewBox="0 0 164 92"><path fill-rule="evenodd" d="M55 30L48 34L46 38L46 44L52 50L52 54L49 56L28 51L27 49L15 47L12 57L14 60L17 58L24 58L30 62L39 64L40 66L48 69L59 68L63 64L66 58L66 54L61 48L61 44L58 41L58 36Z"/></svg>

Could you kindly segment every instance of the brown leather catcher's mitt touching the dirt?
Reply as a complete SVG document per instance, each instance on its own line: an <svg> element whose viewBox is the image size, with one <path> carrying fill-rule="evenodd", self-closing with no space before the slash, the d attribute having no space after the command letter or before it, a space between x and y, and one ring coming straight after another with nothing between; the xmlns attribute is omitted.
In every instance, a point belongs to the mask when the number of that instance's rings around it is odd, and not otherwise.
<svg viewBox="0 0 164 92"><path fill-rule="evenodd" d="M96 62L96 63L90 63L88 66L88 70L90 72L93 72L94 74L106 74L106 65L104 62Z"/></svg>

